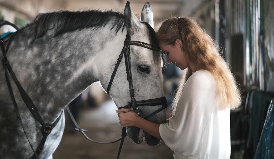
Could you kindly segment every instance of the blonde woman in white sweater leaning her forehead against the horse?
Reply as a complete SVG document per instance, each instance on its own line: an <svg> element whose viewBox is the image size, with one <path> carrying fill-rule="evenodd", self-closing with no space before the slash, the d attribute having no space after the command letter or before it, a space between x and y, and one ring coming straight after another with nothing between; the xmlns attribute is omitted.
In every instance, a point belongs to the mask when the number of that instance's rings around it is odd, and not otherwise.
<svg viewBox="0 0 274 159"><path fill-rule="evenodd" d="M168 123L157 124L119 109L120 124L162 139L175 159L230 158L230 109L241 104L234 76L213 39L191 18L170 18L156 33L167 62L187 69Z"/></svg>

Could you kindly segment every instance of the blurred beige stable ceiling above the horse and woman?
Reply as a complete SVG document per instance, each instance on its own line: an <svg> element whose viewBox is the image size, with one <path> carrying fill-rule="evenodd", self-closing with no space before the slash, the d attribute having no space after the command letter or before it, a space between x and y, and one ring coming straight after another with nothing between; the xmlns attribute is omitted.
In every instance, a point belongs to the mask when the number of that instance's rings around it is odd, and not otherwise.
<svg viewBox="0 0 274 159"><path fill-rule="evenodd" d="M160 22L170 16L191 16L204 3L212 0L131 0L130 6L135 14L141 15L146 2L154 13L154 21ZM115 9L123 12L126 0L0 0L0 9L8 8L26 16L34 18L38 13L56 10L83 10L83 9Z"/></svg>

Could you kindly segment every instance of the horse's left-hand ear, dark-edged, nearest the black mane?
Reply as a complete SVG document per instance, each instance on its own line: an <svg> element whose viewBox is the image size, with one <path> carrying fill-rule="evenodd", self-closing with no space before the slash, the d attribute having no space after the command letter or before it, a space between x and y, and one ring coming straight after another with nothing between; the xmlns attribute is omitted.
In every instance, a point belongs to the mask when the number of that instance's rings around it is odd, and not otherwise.
<svg viewBox="0 0 274 159"><path fill-rule="evenodd" d="M141 29L141 23L139 19L134 15L129 6L129 1L127 2L124 10L125 25L127 27L128 33L133 35Z"/></svg>

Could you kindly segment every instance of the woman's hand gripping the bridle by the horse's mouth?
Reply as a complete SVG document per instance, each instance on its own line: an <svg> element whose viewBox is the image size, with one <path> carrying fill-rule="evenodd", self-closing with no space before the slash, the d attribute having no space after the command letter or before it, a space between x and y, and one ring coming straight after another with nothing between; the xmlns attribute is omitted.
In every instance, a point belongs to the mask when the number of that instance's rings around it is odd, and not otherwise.
<svg viewBox="0 0 274 159"><path fill-rule="evenodd" d="M121 108L116 110L118 112L118 117L120 120L120 124L123 127L128 127L128 126L136 126L136 121L139 118L139 116L134 112L134 111L129 111L129 109L126 108Z"/></svg>

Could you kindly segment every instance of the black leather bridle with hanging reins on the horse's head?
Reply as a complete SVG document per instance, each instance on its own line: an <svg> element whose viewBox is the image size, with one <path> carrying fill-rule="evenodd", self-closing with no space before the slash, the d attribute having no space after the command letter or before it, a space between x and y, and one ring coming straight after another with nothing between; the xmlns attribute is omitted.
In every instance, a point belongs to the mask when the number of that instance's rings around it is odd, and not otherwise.
<svg viewBox="0 0 274 159"><path fill-rule="evenodd" d="M141 23L145 23L140 21ZM151 27L150 25L147 25L147 27ZM138 115L142 114L142 109L141 108L137 108L137 107L145 107L145 106L157 106L157 105L161 105L162 107L157 109L156 111L153 111L152 113L146 115L145 119L148 119L150 117L152 117L153 115L159 113L160 111L164 110L165 108L167 108L167 99L165 97L161 97L161 98L155 98L155 99L148 99L148 100L142 100L142 101L136 101L135 99L135 94L134 94L134 88L133 88L133 84L132 84L132 72L131 72L131 63L130 63L130 45L136 45L136 46L141 46L143 48L147 48L153 51L160 51L159 49L156 49L157 47L147 44L145 42L142 41L131 41L131 37L127 32L125 41L124 41L124 46L123 49L121 51L121 54L119 55L119 58L117 59L117 62L115 64L114 67L114 71L112 72L111 75L111 79L108 83L107 86L107 94L109 94L110 88L111 88L111 84L113 82L113 79L115 77L115 74L118 70L118 67L122 61L123 55L125 56L125 66L126 66L126 73L127 73L127 80L128 80L128 84L129 84L129 92L130 92L130 98L131 98L131 102L129 102L127 105L125 105L124 107L121 108L129 108L129 111L135 111ZM83 134L84 137L86 137L87 140L92 141L94 143L98 143L98 144L110 144L110 143L114 143L114 142L120 142L120 147L119 147L119 151L118 151L118 155L117 155L117 159L120 156L121 153L121 149L124 143L124 139L127 136L126 134L126 127L122 128L122 134L121 134L121 138L116 140L116 141L112 141L112 142L98 142L98 141L94 141L92 139L90 139L86 134L85 134L85 129L82 129L79 127L79 125L76 123L75 119L73 118L71 112L69 111L68 107L67 111L69 116L72 119L72 122L74 123L74 125L76 126L75 130L79 131L81 134ZM119 108L120 109L120 108Z"/></svg>

